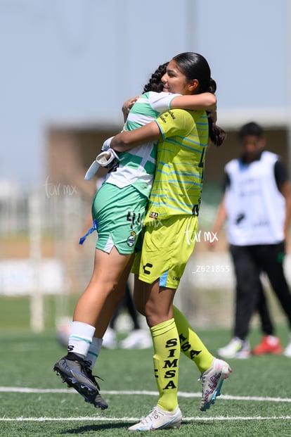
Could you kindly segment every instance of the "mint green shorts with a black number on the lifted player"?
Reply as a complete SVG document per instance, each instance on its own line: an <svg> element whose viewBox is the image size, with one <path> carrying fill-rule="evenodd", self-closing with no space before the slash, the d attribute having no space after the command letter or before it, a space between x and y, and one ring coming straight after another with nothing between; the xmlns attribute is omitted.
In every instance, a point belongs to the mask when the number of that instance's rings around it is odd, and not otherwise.
<svg viewBox="0 0 291 437"><path fill-rule="evenodd" d="M113 246L119 253L134 253L148 198L133 186L104 183L96 192L92 217L97 221L96 248L110 253Z"/></svg>

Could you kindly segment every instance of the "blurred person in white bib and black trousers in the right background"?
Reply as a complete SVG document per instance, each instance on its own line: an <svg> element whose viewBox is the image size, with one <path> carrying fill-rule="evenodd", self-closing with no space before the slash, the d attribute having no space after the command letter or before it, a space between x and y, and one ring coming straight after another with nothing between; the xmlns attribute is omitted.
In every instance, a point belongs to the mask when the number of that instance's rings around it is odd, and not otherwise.
<svg viewBox="0 0 291 437"><path fill-rule="evenodd" d="M227 219L227 239L236 279L233 338L218 353L224 358L247 358L250 320L255 310L261 316L264 337L254 355L284 353L291 357L291 334L283 351L274 336L260 275L269 278L287 317L291 333L291 294L283 260L291 215L290 183L280 157L265 151L264 130L255 122L240 128L240 158L225 167L225 194L219 205L213 232Z"/></svg>

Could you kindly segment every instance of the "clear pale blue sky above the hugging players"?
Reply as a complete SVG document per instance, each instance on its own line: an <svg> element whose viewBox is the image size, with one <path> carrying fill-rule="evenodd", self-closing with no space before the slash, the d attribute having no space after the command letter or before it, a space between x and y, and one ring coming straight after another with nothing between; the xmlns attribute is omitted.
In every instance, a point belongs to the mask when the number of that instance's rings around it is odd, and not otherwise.
<svg viewBox="0 0 291 437"><path fill-rule="evenodd" d="M46 179L51 125L113 122L157 65L198 51L219 110L289 108L288 0L0 0L0 182Z"/></svg>

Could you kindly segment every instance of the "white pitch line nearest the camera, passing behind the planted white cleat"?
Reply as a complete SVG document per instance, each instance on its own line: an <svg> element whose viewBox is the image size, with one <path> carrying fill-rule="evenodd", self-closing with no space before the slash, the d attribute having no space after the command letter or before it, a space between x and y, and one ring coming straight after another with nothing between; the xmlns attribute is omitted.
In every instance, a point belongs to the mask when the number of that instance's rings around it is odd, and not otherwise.
<svg viewBox="0 0 291 437"><path fill-rule="evenodd" d="M141 420L140 417L0 417L0 422L138 422ZM218 416L218 417L183 417L183 422L207 422L210 420L291 420L291 416L256 416L256 417L229 417L229 416Z"/></svg>

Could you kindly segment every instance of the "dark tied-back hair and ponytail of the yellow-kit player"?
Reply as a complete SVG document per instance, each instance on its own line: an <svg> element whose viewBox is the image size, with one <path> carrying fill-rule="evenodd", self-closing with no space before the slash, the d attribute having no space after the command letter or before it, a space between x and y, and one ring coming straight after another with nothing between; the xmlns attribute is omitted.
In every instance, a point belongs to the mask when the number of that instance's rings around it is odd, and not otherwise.
<svg viewBox="0 0 291 437"><path fill-rule="evenodd" d="M204 92L215 93L216 82L212 79L209 65L202 55L187 51L174 56L173 60L189 81L193 79L198 80L199 87L196 94ZM208 126L209 138L212 143L216 146L221 146L226 139L226 132L217 126L211 118L208 118Z"/></svg>

